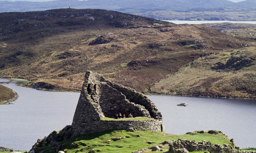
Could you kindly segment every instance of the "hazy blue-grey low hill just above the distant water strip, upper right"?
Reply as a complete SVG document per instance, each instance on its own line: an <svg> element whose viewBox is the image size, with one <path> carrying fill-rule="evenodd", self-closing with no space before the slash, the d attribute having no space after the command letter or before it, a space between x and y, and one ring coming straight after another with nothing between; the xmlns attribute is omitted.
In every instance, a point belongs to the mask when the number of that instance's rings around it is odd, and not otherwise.
<svg viewBox="0 0 256 153"><path fill-rule="evenodd" d="M127 12L132 10L126 10ZM227 20L244 21L256 20L256 7L251 8L194 8L190 10L154 10L134 13L159 20Z"/></svg>

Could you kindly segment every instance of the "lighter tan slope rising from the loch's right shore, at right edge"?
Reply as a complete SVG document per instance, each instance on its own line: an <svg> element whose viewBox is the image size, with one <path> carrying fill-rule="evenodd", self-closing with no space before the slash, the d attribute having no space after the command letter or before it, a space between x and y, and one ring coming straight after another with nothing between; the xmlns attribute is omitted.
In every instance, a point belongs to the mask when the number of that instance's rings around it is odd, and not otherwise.
<svg viewBox="0 0 256 153"><path fill-rule="evenodd" d="M186 64L176 75L157 83L152 91L253 99L256 97L255 57L254 47L202 57Z"/></svg>

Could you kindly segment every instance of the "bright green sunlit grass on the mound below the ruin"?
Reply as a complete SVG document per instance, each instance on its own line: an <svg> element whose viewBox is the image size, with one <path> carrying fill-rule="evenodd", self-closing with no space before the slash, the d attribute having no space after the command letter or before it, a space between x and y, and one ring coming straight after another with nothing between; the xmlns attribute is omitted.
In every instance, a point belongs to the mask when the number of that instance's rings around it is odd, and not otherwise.
<svg viewBox="0 0 256 153"><path fill-rule="evenodd" d="M120 138L121 137L121 138ZM115 138L120 138L116 140ZM196 134L196 135L170 135L166 133L153 133L150 131L134 131L127 132L123 130L118 131L104 131L94 134L78 136L66 141L60 142L61 150L65 152L89 152L94 150L95 152L133 152L139 149L150 149L152 146L163 143L169 140L188 139L201 142L202 140L210 141L211 143L231 145L227 136L223 134ZM147 141L151 141L149 144ZM56 146L41 147L36 152L49 152ZM161 148L163 151L167 151L168 147Z"/></svg>

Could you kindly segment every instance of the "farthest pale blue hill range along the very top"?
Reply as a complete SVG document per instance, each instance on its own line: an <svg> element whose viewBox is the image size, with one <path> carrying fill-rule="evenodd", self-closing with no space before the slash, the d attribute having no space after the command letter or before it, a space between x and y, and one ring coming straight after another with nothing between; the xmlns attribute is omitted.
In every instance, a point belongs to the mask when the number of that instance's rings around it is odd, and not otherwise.
<svg viewBox="0 0 256 153"><path fill-rule="evenodd" d="M107 9L107 10L118 10L126 8L137 8L144 10L184 10L193 8L223 8L223 7L238 7L238 8L249 8L256 7L256 2L253 0L247 0L239 3L233 3L227 0L143 0L143 1L118 1L118 0L60 0L50 2L22 2L22 1L0 1L0 11L36 11L44 9L56 9L56 8L90 8L90 9Z"/></svg>

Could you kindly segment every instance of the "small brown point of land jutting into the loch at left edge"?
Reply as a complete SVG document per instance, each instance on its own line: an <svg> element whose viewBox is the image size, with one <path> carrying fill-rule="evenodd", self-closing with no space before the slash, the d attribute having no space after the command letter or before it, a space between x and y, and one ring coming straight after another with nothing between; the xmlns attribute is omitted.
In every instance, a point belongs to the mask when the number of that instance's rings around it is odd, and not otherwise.
<svg viewBox="0 0 256 153"><path fill-rule="evenodd" d="M17 93L3 85L0 85L0 91L0 105L8 103L8 101L12 101L17 97Z"/></svg>

